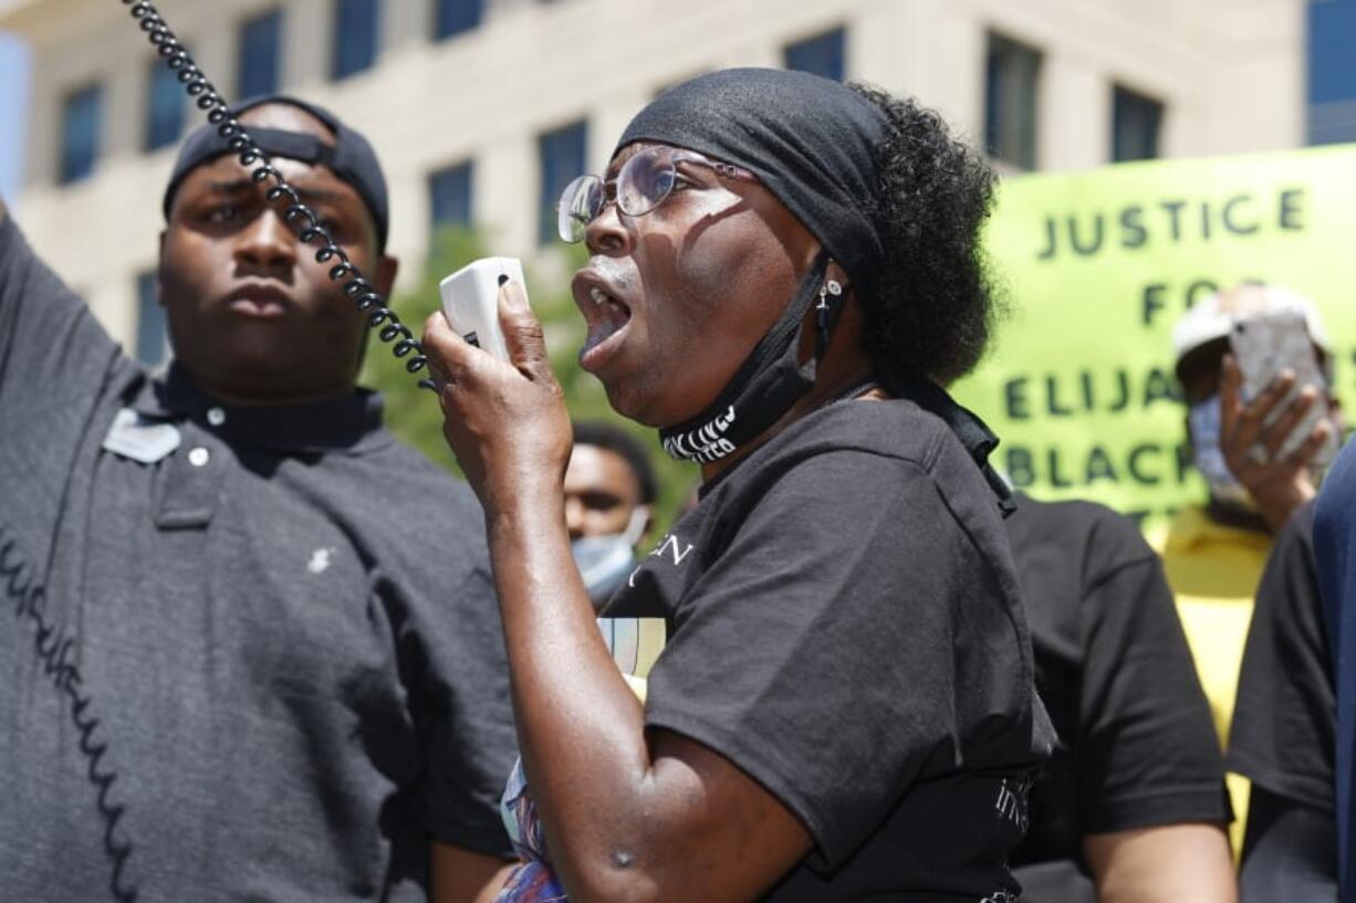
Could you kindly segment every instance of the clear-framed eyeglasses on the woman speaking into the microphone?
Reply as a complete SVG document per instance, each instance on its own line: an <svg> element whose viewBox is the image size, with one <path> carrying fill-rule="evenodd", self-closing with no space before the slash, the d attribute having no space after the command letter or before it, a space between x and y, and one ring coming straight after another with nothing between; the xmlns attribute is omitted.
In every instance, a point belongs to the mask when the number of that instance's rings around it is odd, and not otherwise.
<svg viewBox="0 0 1356 903"><path fill-rule="evenodd" d="M567 244L583 241L589 224L598 218L609 201L628 217L643 217L664 202L678 180L678 164L709 167L717 175L743 182L757 182L749 169L719 163L693 150L651 146L633 155L621 165L616 179L603 182L595 175L582 175L565 186L556 203L556 229Z"/></svg>

